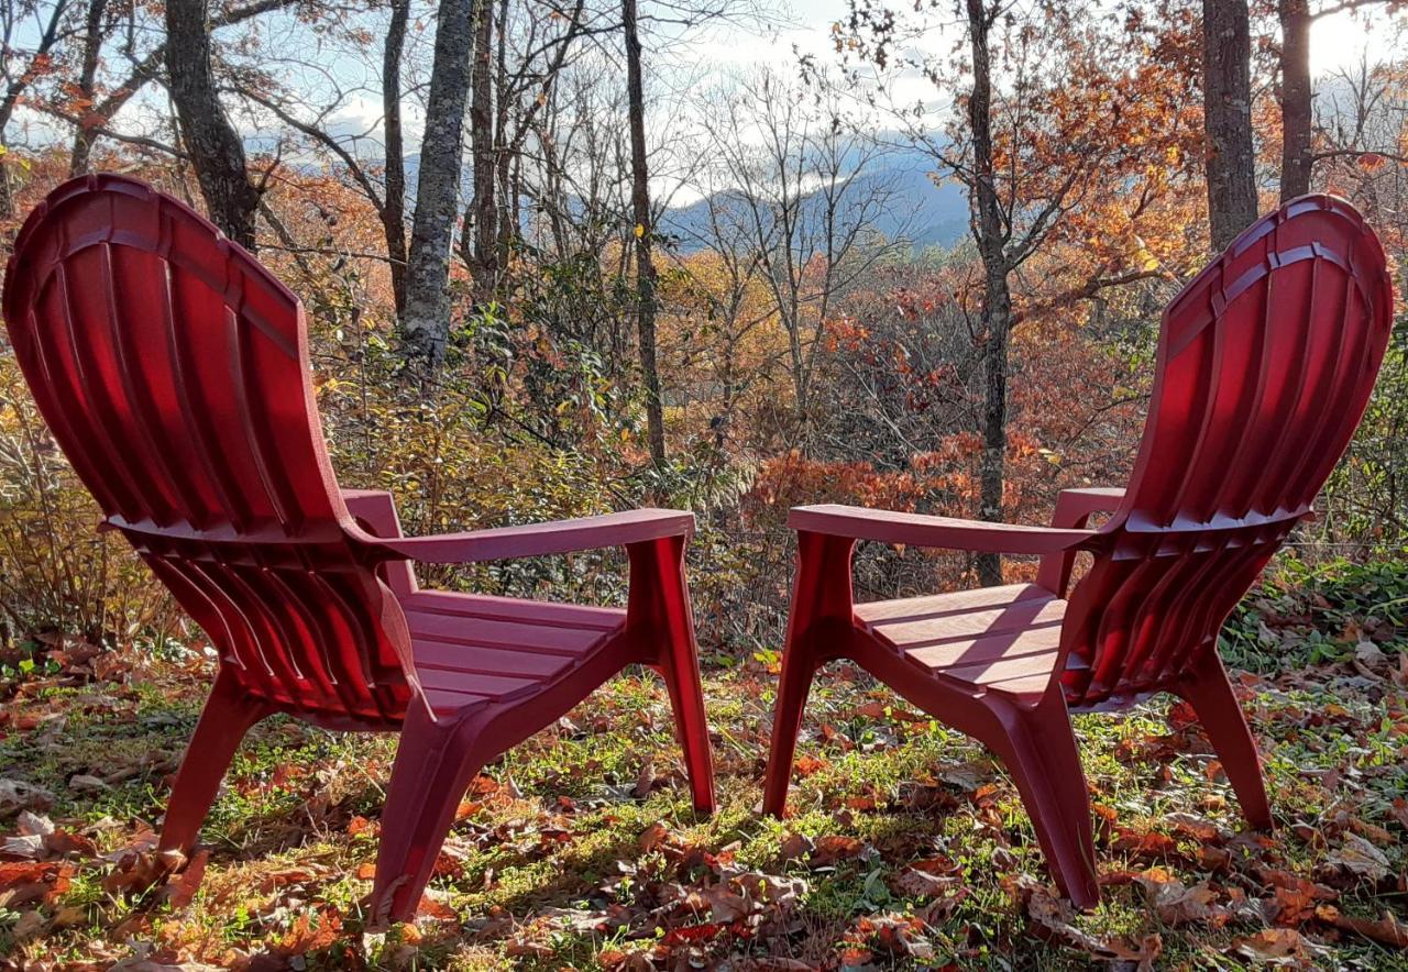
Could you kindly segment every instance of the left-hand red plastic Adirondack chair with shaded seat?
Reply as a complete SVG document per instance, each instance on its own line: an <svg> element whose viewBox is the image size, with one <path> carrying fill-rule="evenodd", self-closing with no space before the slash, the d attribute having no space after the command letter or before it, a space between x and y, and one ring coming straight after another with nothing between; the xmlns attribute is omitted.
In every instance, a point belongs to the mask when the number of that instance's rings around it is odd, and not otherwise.
<svg viewBox="0 0 1408 972"><path fill-rule="evenodd" d="M400 730L372 921L406 919L473 774L632 663L665 677L694 806L712 809L683 570L693 515L403 537L390 494L337 485L297 298L193 210L132 179L76 179L30 215L4 316L103 523L220 654L163 848L194 843L260 717ZM410 564L610 546L629 556L624 610L422 591Z"/></svg>

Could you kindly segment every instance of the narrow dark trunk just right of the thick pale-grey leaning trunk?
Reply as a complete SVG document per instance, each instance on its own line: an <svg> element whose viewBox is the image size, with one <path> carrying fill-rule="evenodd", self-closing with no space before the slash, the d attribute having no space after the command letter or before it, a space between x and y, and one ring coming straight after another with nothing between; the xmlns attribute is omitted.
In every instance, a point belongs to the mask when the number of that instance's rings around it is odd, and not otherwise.
<svg viewBox="0 0 1408 972"><path fill-rule="evenodd" d="M498 205L494 198L494 4L486 0L474 25L474 69L470 77L469 146L474 165L474 201L466 214L465 232L473 225L473 248L462 242L474 277L474 304L493 297L498 270ZM503 93L500 93L503 94Z"/></svg>

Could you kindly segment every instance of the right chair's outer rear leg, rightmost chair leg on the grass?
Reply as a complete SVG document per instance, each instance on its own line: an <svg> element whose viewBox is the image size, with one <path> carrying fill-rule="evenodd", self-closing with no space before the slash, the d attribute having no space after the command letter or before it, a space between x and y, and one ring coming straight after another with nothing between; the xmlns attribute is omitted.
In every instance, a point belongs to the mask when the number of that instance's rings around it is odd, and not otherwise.
<svg viewBox="0 0 1408 972"><path fill-rule="evenodd" d="M1215 651L1205 651L1173 691L1187 699L1202 723L1247 823L1257 830L1271 830L1274 823L1266 799L1262 757L1222 660Z"/></svg>

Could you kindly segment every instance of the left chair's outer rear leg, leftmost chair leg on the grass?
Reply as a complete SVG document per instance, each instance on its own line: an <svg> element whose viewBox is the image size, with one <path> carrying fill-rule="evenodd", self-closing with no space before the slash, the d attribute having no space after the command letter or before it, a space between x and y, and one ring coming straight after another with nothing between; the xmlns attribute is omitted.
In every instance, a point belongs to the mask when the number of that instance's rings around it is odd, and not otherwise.
<svg viewBox="0 0 1408 972"><path fill-rule="evenodd" d="M251 726L266 715L268 706L251 701L244 686L221 668L176 772L162 823L161 850L184 854L196 844L235 750Z"/></svg>

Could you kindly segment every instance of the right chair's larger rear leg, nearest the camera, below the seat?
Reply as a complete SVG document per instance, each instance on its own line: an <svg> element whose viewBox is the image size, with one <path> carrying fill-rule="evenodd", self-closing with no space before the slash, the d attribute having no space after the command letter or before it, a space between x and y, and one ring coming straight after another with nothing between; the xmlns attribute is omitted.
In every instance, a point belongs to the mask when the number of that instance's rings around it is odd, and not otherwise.
<svg viewBox="0 0 1408 972"><path fill-rule="evenodd" d="M1056 689L1035 709L998 716L1008 737L993 748L1012 774L1046 865L1076 907L1093 909L1100 903L1100 871L1090 793L1066 701Z"/></svg>

